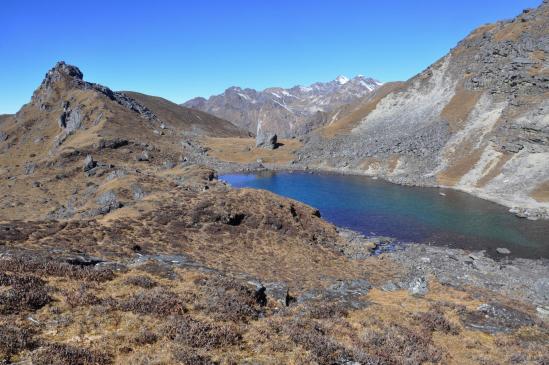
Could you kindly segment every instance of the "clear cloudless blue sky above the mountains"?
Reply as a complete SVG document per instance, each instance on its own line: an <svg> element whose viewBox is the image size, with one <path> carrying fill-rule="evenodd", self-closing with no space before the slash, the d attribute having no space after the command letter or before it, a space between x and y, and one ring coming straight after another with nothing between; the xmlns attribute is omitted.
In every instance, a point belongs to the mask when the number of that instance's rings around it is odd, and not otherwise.
<svg viewBox="0 0 549 365"><path fill-rule="evenodd" d="M27 1L0 4L0 114L58 60L175 102L364 74L405 80L475 27L541 0Z"/></svg>

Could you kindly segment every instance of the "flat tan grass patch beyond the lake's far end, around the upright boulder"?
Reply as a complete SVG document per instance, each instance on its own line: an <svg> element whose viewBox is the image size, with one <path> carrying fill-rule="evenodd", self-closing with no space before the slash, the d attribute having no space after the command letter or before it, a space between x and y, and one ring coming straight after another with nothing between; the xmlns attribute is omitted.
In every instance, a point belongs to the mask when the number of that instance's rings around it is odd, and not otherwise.
<svg viewBox="0 0 549 365"><path fill-rule="evenodd" d="M253 138L204 138L208 154L221 161L236 163L288 163L294 159L294 153L301 147L297 139L280 140L282 144L274 150L256 148Z"/></svg>

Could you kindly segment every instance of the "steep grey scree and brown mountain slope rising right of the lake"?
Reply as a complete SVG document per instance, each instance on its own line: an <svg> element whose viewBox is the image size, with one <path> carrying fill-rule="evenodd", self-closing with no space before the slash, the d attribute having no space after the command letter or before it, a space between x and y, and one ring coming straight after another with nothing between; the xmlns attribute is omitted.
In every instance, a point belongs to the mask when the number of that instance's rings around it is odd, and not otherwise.
<svg viewBox="0 0 549 365"><path fill-rule="evenodd" d="M321 128L300 161L549 206L549 4L485 25L402 87Z"/></svg>

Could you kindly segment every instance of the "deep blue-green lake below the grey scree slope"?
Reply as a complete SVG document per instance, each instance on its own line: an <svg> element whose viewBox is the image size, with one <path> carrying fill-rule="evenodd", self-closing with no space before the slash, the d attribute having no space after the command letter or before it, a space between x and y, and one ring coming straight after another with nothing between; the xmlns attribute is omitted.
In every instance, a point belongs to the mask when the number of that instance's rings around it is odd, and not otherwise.
<svg viewBox="0 0 549 365"><path fill-rule="evenodd" d="M333 224L365 235L486 250L490 255L505 247L513 257L549 258L549 222L517 218L503 206L458 191L305 172L228 174L221 179L237 188L266 189L302 201Z"/></svg>

